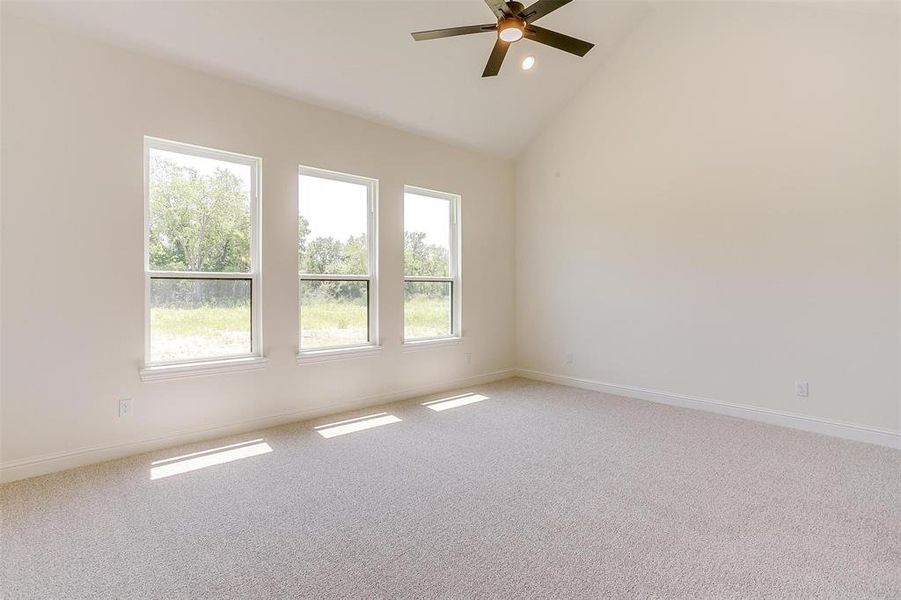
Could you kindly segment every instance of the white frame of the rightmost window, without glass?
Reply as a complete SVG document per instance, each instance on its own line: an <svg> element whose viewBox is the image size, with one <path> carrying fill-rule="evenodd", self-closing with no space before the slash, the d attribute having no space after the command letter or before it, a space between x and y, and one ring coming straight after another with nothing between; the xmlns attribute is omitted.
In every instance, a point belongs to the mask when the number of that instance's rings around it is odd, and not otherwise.
<svg viewBox="0 0 901 600"><path fill-rule="evenodd" d="M427 196L431 198L438 198L440 200L447 200L450 204L450 235L448 237L450 248L448 251L450 252L450 256L448 257L448 268L449 276L448 277L421 277L421 276L411 276L406 274L406 259L404 260L404 265L402 267L404 273L404 285L406 287L406 283L408 281L423 281L423 282L445 282L451 284L451 333L450 335L442 335L442 336L433 336L433 337L423 337L423 338L408 338L406 333L401 336L401 339L404 343L404 348L408 350L414 350L423 346L434 346L441 344L453 344L459 343L463 339L463 278L461 276L461 256L460 249L462 248L462 231L461 231L461 220L462 220L462 204L463 197L460 194L452 194L449 192L439 192L437 190L430 190L428 188L421 188L412 185L404 186L404 198L406 198L406 194L416 194L419 196ZM406 215L404 219L404 227L403 230L406 232L407 224L406 224ZM406 233L404 234L406 239ZM404 249L406 251L406 248ZM406 294L406 291L404 292ZM404 298L404 330L406 330L406 298Z"/></svg>

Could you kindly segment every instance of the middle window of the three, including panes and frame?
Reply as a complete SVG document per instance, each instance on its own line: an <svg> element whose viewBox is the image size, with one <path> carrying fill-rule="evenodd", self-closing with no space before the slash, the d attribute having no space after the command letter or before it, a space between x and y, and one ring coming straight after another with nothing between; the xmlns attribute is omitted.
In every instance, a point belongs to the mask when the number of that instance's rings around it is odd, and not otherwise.
<svg viewBox="0 0 901 600"><path fill-rule="evenodd" d="M301 167L300 352L377 344L377 181Z"/></svg>

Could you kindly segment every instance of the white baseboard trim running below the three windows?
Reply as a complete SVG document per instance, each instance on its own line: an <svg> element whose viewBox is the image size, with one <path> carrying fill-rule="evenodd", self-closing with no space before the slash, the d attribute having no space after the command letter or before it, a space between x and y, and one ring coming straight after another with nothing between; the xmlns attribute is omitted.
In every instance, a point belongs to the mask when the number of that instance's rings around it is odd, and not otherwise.
<svg viewBox="0 0 901 600"><path fill-rule="evenodd" d="M379 404L387 404L400 400L408 400L418 396L436 394L462 387L482 385L493 381L507 379L513 377L513 375L514 369L503 369L500 371L483 373L481 375L474 375L472 377L448 380L434 385L419 386L384 394L366 396L363 398L355 398L353 400L333 403L328 406L293 410L275 415L244 419L216 427L179 431L159 437L77 448L74 450L11 460L0 463L0 483L7 483L17 479L25 479L27 477L35 477L38 475L46 475L47 473L54 473L56 471L64 471L75 467L115 460L117 458L134 456L136 454L143 454L145 452L161 450L172 446L202 442L219 437L247 433L256 429L265 429L267 427L275 427L277 425L284 425L297 421L316 419L349 410L377 406Z"/></svg>

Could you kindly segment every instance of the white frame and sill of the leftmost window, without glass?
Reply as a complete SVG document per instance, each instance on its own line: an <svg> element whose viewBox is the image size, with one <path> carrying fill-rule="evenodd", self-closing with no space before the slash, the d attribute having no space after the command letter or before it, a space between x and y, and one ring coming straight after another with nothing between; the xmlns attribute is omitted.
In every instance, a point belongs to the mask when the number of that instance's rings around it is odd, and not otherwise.
<svg viewBox="0 0 901 600"><path fill-rule="evenodd" d="M211 158L250 167L250 270L246 273L208 271L153 271L150 269L150 151L163 150L201 158ZM144 381L181 379L244 371L265 366L261 285L261 190L262 159L225 150L215 150L183 142L144 137ZM150 285L152 279L239 279L250 281L250 352L172 361L150 361Z"/></svg>

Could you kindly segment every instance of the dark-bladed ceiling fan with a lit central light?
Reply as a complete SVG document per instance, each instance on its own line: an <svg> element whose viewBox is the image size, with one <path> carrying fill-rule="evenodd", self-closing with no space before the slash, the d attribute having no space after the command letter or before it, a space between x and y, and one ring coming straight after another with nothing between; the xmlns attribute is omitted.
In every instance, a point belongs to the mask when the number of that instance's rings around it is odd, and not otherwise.
<svg viewBox="0 0 901 600"><path fill-rule="evenodd" d="M417 31L411 35L414 40L421 42L423 40L435 40L456 35L496 31L497 40L494 42L491 56L488 57L488 64L485 65L485 71L482 73L482 77L494 77L501 70L501 64L504 62L504 56L507 54L507 48L510 47L510 44L518 42L522 38L545 44L576 56L588 54L588 51L594 47L594 44L533 25L541 17L570 2L572 0L538 0L526 8L519 2L485 0L485 4L488 5L488 8L491 9L497 18L497 23Z"/></svg>

